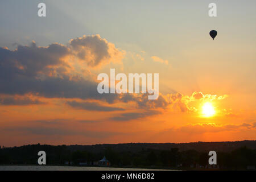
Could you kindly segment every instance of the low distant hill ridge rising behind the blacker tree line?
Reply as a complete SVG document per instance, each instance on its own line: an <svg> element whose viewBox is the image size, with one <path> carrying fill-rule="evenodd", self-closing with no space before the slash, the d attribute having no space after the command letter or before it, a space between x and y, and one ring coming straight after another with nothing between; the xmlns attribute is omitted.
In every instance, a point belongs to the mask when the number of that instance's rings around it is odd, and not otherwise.
<svg viewBox="0 0 256 182"><path fill-rule="evenodd" d="M229 144L229 145L226 145ZM232 145L230 145L232 144ZM142 148L157 148L160 150L166 150L170 148L179 148L179 150L198 150L198 151L207 151L207 150L216 150L216 151L231 151L235 150L239 147L246 146L253 150L256 150L256 140L240 140L240 141L224 141L224 142L188 142L188 143L97 143L97 144L47 144L47 143L35 143L35 144L24 144L22 146L13 146L13 147L6 147L1 146L1 148L19 148L24 146L67 146L69 148L76 148L77 150L88 150L88 151L102 151L105 147L112 147L113 150L117 149L120 151L129 151L129 150L141 150ZM121 146L121 147L120 147ZM118 148L119 147L119 148ZM96 149L97 148L97 149Z"/></svg>

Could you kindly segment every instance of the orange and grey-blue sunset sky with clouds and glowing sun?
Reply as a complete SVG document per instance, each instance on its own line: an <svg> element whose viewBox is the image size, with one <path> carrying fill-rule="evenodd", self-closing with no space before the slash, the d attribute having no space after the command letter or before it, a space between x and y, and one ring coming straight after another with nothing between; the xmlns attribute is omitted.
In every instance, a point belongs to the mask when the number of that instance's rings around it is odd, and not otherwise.
<svg viewBox="0 0 256 182"><path fill-rule="evenodd" d="M0 146L255 140L255 5L1 1ZM99 94L113 68L159 73L158 100Z"/></svg>

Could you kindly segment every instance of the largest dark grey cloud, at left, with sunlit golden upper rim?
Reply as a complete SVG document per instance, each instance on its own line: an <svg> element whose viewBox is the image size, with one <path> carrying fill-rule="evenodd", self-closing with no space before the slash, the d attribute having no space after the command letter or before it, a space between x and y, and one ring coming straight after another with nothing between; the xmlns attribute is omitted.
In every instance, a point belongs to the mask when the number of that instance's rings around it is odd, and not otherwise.
<svg viewBox="0 0 256 182"><path fill-rule="evenodd" d="M14 51L0 48L0 94L32 93L48 98L92 98L112 103L118 96L99 94L97 82L82 77L72 79L72 75L64 73L69 65L62 58L74 54L70 49L82 51L81 47L88 49L92 46L91 49L95 49L94 53L98 55L96 57L102 59L108 56L102 51L106 48L101 48L104 47L101 44L108 42L100 36L86 36L73 39L71 48L57 43L38 47L34 42L30 46L18 46ZM49 76L53 70L56 75Z"/></svg>

